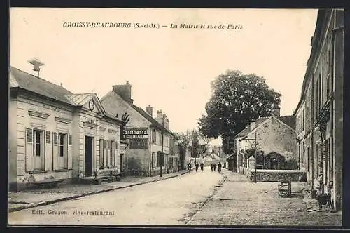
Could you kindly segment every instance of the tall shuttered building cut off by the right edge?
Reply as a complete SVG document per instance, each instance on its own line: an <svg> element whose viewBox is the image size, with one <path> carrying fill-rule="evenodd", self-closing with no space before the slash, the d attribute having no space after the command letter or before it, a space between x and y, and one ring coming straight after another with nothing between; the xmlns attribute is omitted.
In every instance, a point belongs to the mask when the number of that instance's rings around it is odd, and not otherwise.
<svg viewBox="0 0 350 233"><path fill-rule="evenodd" d="M318 10L311 53L295 109L297 142L310 189L323 173L323 192L342 208L344 10Z"/></svg>

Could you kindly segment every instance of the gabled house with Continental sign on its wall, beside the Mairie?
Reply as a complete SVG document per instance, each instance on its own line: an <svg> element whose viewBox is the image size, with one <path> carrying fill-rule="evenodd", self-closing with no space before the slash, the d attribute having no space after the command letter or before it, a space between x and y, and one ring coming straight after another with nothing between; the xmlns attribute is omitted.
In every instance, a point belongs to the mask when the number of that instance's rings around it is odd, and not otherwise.
<svg viewBox="0 0 350 233"><path fill-rule="evenodd" d="M129 82L125 85L115 85L112 91L101 99L104 109L112 116L125 113L130 116L130 122L124 128L124 135L130 140L130 147L127 149L127 172L146 176L160 173L162 133L165 153L163 172L177 171L178 165L184 164L180 159L185 158L180 157L179 138L169 130L169 119L161 110L153 118L151 105L146 107L146 111L134 105L131 91L132 86ZM140 134L139 131L143 133Z"/></svg>

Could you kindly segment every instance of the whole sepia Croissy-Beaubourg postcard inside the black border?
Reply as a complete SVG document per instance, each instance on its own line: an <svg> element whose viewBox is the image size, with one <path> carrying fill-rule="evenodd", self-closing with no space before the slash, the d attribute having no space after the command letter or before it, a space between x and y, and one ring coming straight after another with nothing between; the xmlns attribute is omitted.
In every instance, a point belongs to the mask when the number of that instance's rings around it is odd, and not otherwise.
<svg viewBox="0 0 350 233"><path fill-rule="evenodd" d="M342 225L344 9L10 8L9 226Z"/></svg>

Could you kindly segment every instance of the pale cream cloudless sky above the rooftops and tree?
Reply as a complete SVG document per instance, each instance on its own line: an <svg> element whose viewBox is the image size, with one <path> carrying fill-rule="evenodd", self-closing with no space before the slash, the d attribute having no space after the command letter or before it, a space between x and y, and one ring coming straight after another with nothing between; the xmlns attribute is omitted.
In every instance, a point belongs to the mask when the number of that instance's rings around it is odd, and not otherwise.
<svg viewBox="0 0 350 233"><path fill-rule="evenodd" d="M184 132L197 128L211 81L227 69L263 76L282 95L281 115L293 114L316 17L316 9L11 8L10 65L32 73L27 61L38 58L41 78L100 99L129 81L135 105L162 109L170 129ZM64 27L69 22L89 27ZM97 22L131 27L92 27Z"/></svg>

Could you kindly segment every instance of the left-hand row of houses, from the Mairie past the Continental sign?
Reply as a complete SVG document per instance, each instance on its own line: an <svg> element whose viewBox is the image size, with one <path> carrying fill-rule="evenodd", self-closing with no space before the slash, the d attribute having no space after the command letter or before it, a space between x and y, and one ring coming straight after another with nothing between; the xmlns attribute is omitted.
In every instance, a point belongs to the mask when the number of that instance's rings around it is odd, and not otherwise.
<svg viewBox="0 0 350 233"><path fill-rule="evenodd" d="M40 64L40 63L39 63ZM38 67L34 70L38 71ZM15 67L9 70L8 181L11 190L47 178L71 182L99 171L132 175L185 167L179 138L162 111L133 104L132 86L112 86L101 100ZM164 138L162 138L164 135ZM183 150L182 150L183 151Z"/></svg>

